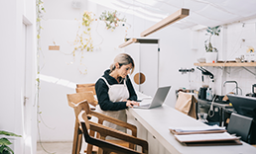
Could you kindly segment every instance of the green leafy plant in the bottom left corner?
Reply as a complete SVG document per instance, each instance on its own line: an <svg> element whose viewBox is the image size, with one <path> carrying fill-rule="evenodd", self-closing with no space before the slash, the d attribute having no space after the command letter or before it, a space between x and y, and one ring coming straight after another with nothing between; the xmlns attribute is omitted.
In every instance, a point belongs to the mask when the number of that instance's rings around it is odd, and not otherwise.
<svg viewBox="0 0 256 154"><path fill-rule="evenodd" d="M0 130L0 135L21 137L21 135L2 130ZM8 146L11 144L12 143L6 137L0 138L0 154L14 154L13 150Z"/></svg>

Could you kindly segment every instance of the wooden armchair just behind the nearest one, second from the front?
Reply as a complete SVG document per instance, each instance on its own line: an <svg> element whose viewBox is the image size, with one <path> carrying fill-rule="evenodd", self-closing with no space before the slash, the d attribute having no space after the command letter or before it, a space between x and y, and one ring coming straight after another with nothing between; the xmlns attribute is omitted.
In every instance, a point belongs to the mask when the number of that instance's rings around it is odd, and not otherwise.
<svg viewBox="0 0 256 154"><path fill-rule="evenodd" d="M84 93L75 93L75 94L67 94L67 101L69 107L73 108L76 104L83 102L84 100L91 100L90 98L93 97L93 94L91 92L84 92ZM105 116L102 114L99 114L97 112L92 111L89 106L88 106L89 101L86 101L87 106L84 106L86 108L86 114L88 118L91 118L92 116L97 117L98 123L102 124L104 120L115 123L117 125L123 126L125 128L128 128L131 130L132 135L134 137L137 136L137 127L135 125L129 124L127 122L124 122L122 120L110 117L110 116ZM81 131L78 127L78 120L75 120L75 125L74 125L74 134L73 134L73 145L72 145L72 154L78 154L80 151L81 147ZM94 135L94 131L90 132L91 135ZM98 136L99 137L99 136ZM101 137L102 139L105 139L104 137ZM130 148L134 148L133 144L129 144ZM91 153L92 151L92 146L88 145L87 146L87 153Z"/></svg>

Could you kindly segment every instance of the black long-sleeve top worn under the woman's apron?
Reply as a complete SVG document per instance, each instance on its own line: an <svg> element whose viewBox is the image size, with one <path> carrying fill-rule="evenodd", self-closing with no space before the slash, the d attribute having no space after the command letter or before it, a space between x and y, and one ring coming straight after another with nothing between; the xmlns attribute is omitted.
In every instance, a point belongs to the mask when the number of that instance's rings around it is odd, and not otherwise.
<svg viewBox="0 0 256 154"><path fill-rule="evenodd" d="M114 84L124 84L124 80L121 83L118 83L115 78L109 75L110 70L106 70L104 72L104 77L109 85L114 85ZM129 91L129 99L131 101L136 101L137 100L137 95L134 91L134 88L132 86L131 80L129 76L127 75L126 77L126 86ZM108 86L105 83L103 79L98 79L95 85L95 90L96 90L96 95L98 99L98 104L100 106L100 109L102 111L120 111L126 109L126 103L127 102L111 102L108 96Z"/></svg>

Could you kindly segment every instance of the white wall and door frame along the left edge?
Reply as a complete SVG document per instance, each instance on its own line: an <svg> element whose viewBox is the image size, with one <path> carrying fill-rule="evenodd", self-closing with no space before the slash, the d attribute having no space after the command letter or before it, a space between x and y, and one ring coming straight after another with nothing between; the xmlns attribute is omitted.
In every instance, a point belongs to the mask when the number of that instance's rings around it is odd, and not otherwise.
<svg viewBox="0 0 256 154"><path fill-rule="evenodd" d="M14 143L11 148L14 153L36 153L36 112L35 82L36 82L36 38L35 30L35 2L33 0L1 1L0 13L2 24L0 26L0 57L2 72L1 78L1 105L0 105L0 129L22 135L21 138L11 139ZM24 113L24 38L23 23L30 23L27 29L27 63L31 67L27 69L27 96L28 116ZM28 24L27 23L27 24ZM29 58L29 59L28 59ZM33 106L34 105L34 106ZM30 121L24 125L24 121ZM31 130L25 133L25 130Z"/></svg>

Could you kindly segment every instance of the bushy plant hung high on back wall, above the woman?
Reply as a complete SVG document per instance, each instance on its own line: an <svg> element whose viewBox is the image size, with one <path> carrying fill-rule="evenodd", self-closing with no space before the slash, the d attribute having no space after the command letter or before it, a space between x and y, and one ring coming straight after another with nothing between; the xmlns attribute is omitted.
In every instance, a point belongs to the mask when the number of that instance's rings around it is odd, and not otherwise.
<svg viewBox="0 0 256 154"><path fill-rule="evenodd" d="M114 12L107 12L104 11L99 17L99 20L104 21L106 24L106 29L110 29L111 31L114 31L116 27L119 26L120 22L126 22L125 18L118 18L117 17L117 11Z"/></svg>

